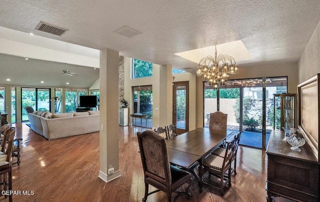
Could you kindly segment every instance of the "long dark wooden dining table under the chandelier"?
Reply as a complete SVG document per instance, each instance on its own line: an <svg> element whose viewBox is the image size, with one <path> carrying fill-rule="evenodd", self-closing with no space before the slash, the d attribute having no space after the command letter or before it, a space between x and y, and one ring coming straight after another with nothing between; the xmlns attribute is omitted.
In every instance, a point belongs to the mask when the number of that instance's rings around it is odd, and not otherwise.
<svg viewBox="0 0 320 202"><path fill-rule="evenodd" d="M234 130L214 130L199 127L166 141L168 157L171 164L185 169L193 169L199 163L198 186L203 189L203 159L216 147L221 145Z"/></svg>

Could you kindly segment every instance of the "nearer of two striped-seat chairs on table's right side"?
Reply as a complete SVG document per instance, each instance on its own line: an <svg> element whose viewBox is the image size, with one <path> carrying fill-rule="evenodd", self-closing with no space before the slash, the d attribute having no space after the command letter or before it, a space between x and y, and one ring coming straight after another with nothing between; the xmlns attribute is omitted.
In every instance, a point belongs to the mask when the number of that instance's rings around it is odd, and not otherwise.
<svg viewBox="0 0 320 202"><path fill-rule="evenodd" d="M224 156L218 156L209 154L203 160L203 173L206 171L209 172L209 176L211 174L219 177L220 183L219 186L215 186L215 184L210 184L208 182L203 182L205 184L214 186L220 190L220 194L223 195L223 188L226 184L231 186L231 158L233 155L233 147L235 146L235 139L232 142L227 142L227 146L224 152ZM227 174L226 174L227 173Z"/></svg>

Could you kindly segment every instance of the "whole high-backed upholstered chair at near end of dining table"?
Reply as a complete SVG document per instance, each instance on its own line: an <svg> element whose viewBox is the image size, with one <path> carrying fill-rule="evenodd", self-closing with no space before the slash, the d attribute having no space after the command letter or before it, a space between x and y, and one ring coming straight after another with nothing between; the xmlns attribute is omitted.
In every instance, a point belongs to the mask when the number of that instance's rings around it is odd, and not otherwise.
<svg viewBox="0 0 320 202"><path fill-rule="evenodd" d="M191 185L191 174L185 170L169 164L169 158L164 137L158 135L152 130L137 132L142 167L144 172L144 197L142 201L146 201L148 195L164 191L167 200L171 202L172 192L178 193L173 201L180 195L186 194L191 197L189 187ZM185 191L176 190L184 183L187 183ZM148 192L149 184L157 188L157 190Z"/></svg>

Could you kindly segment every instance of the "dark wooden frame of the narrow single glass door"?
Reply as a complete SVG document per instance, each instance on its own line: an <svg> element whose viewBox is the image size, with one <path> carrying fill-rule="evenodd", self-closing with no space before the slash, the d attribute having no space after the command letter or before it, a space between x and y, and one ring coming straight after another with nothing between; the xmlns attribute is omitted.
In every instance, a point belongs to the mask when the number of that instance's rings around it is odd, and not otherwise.
<svg viewBox="0 0 320 202"><path fill-rule="evenodd" d="M189 81L172 82L172 122L176 124L176 87L185 86L185 129L177 127L177 133L189 131Z"/></svg>

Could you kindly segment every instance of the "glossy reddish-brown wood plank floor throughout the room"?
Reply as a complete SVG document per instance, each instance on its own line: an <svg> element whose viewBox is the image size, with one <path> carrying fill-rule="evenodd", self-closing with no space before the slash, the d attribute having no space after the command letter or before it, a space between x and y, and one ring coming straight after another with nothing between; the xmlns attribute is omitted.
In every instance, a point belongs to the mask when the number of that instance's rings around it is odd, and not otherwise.
<svg viewBox="0 0 320 202"><path fill-rule="evenodd" d="M13 195L13 201L141 201L144 181L135 127L119 127L121 177L109 183L98 178L99 132L48 141L23 123L15 127L23 141L21 163L12 167L12 187L21 195ZM210 186L200 193L194 180L191 199L180 196L177 201L265 201L266 155L259 149L238 149L237 174L224 196ZM22 195L22 190L30 194ZM8 198L2 195L0 201ZM147 201L166 201L166 195L160 191Z"/></svg>

